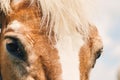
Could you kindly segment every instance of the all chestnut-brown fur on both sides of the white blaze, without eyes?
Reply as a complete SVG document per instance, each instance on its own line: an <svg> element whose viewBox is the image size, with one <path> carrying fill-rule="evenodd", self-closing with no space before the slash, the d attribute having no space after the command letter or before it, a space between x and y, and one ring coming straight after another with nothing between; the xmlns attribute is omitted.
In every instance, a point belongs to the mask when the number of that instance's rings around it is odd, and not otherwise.
<svg viewBox="0 0 120 80"><path fill-rule="evenodd" d="M49 30L46 27L40 28L42 12L38 10L38 5L34 2L32 5L29 0L19 4L11 3L13 12L7 15L7 25L17 20L24 24L18 32L3 27L0 38L0 70L3 80L26 80L26 77L32 77L34 80L62 80L61 65L56 48L46 35ZM2 19L0 19L2 20ZM1 22L1 21L0 21ZM25 46L28 60L20 63L12 60L5 48L5 33L12 32L18 37ZM51 35L55 44L54 33ZM39 44L38 44L39 43ZM28 47L29 46L29 47ZM102 48L102 42L98 35L96 27L89 25L89 37L83 47L80 49L80 77L81 80L89 80L89 72L95 64L95 55ZM32 62L30 55L37 56ZM28 70L26 70L26 67Z"/></svg>

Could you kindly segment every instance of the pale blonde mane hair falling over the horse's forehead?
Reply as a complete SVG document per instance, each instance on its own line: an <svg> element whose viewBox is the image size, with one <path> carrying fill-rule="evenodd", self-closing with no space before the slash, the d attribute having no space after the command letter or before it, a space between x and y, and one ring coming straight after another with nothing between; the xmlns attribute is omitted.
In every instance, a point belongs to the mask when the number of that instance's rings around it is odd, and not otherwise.
<svg viewBox="0 0 120 80"><path fill-rule="evenodd" d="M12 12L11 0L0 0L0 8L5 14ZM30 0L31 3L34 0ZM56 38L78 34L88 37L89 22L85 13L87 0L36 0L42 10L42 21L47 19L49 34L53 30ZM46 26L48 27L48 26Z"/></svg>

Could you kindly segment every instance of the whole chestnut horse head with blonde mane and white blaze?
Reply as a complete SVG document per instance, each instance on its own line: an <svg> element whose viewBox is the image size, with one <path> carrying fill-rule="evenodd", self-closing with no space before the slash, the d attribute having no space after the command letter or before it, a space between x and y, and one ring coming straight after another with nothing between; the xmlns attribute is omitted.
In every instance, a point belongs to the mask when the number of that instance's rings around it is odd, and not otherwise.
<svg viewBox="0 0 120 80"><path fill-rule="evenodd" d="M83 0L0 0L1 80L89 80L103 50Z"/></svg>

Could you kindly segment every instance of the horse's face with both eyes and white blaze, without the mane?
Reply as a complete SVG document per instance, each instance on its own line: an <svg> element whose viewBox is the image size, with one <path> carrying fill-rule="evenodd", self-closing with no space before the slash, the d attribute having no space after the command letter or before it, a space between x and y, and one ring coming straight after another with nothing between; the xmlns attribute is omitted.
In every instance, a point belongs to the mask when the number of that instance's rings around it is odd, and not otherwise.
<svg viewBox="0 0 120 80"><path fill-rule="evenodd" d="M89 72L102 51L102 41L96 27L89 25L87 39L75 40L80 43L75 56L68 54L71 53L69 46L71 42L67 41L68 35L65 36L61 41L67 45L63 47L67 50L61 48L67 53L64 55L60 53L59 41L58 43L55 41L54 32L52 31L51 34L51 43L46 33L50 28L44 28L44 25L41 28L42 11L37 8L35 1L31 4L29 0L12 0L11 7L13 11L4 18L5 24L0 39L3 80L89 79ZM76 35L72 37L78 39ZM76 44L73 47L75 46ZM71 77L72 75L74 78Z"/></svg>

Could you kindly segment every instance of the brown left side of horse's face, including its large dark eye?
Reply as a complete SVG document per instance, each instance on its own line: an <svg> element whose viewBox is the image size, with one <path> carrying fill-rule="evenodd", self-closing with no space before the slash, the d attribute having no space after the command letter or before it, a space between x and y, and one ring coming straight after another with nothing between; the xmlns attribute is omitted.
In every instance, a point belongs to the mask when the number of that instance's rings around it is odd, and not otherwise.
<svg viewBox="0 0 120 80"><path fill-rule="evenodd" d="M59 80L57 50L52 48L46 29L40 30L37 6L26 2L13 7L7 15L1 37L1 74L3 80ZM34 4L34 3L33 3ZM23 7L24 6L24 7ZM57 72L57 73L56 73Z"/></svg>

